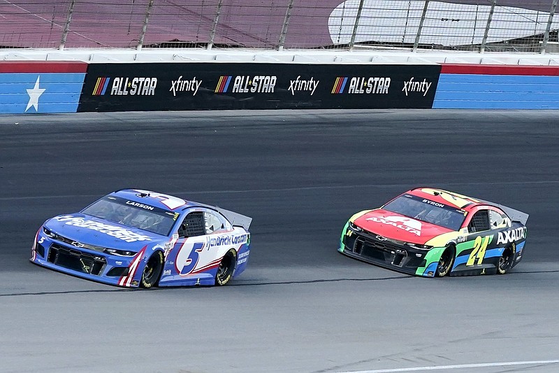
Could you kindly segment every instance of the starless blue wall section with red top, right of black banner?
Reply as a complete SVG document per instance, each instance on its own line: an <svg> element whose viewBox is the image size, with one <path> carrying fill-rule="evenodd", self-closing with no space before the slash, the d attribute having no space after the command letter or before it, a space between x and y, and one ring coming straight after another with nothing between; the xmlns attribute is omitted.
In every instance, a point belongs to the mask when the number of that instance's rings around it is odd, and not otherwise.
<svg viewBox="0 0 559 373"><path fill-rule="evenodd" d="M559 66L442 65L433 108L558 109Z"/></svg>

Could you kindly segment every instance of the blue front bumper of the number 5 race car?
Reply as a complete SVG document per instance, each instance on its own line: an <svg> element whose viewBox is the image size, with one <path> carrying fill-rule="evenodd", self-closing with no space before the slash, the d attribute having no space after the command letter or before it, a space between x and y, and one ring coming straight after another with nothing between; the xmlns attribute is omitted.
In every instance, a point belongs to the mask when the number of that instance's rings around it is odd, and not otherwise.
<svg viewBox="0 0 559 373"><path fill-rule="evenodd" d="M140 253L136 255L138 254ZM76 247L64 240L48 237L41 227L31 248L30 260L36 265L83 279L110 285L137 287L141 272L131 270L136 255L110 255L84 247ZM139 266L136 265L137 267ZM130 279L130 281L123 281L124 279Z"/></svg>

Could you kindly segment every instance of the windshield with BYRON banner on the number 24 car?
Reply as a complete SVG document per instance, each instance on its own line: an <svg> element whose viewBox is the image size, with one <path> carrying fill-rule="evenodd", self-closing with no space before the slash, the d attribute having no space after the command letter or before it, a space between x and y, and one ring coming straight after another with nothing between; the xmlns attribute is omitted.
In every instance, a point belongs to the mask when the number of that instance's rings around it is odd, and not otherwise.
<svg viewBox="0 0 559 373"><path fill-rule="evenodd" d="M401 195L384 209L455 231L460 230L465 219L465 212L460 209L414 195Z"/></svg>

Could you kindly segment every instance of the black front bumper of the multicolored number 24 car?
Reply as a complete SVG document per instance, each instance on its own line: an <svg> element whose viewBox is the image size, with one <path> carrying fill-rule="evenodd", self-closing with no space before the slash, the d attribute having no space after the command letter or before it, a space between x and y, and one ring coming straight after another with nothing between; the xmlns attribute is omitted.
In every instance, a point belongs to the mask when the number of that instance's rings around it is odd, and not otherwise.
<svg viewBox="0 0 559 373"><path fill-rule="evenodd" d="M426 266L428 250L398 244L373 232L354 230L349 225L346 225L342 231L338 251L351 258L405 274L434 276L433 271L423 270Z"/></svg>

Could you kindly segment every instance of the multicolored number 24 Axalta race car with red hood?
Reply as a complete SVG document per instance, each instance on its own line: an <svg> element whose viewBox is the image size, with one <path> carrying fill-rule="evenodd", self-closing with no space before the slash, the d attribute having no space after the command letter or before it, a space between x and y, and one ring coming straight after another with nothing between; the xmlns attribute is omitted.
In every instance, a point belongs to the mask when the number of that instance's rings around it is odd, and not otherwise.
<svg viewBox="0 0 559 373"><path fill-rule="evenodd" d="M338 251L418 276L504 274L522 258L527 220L500 204L416 188L351 216Z"/></svg>

